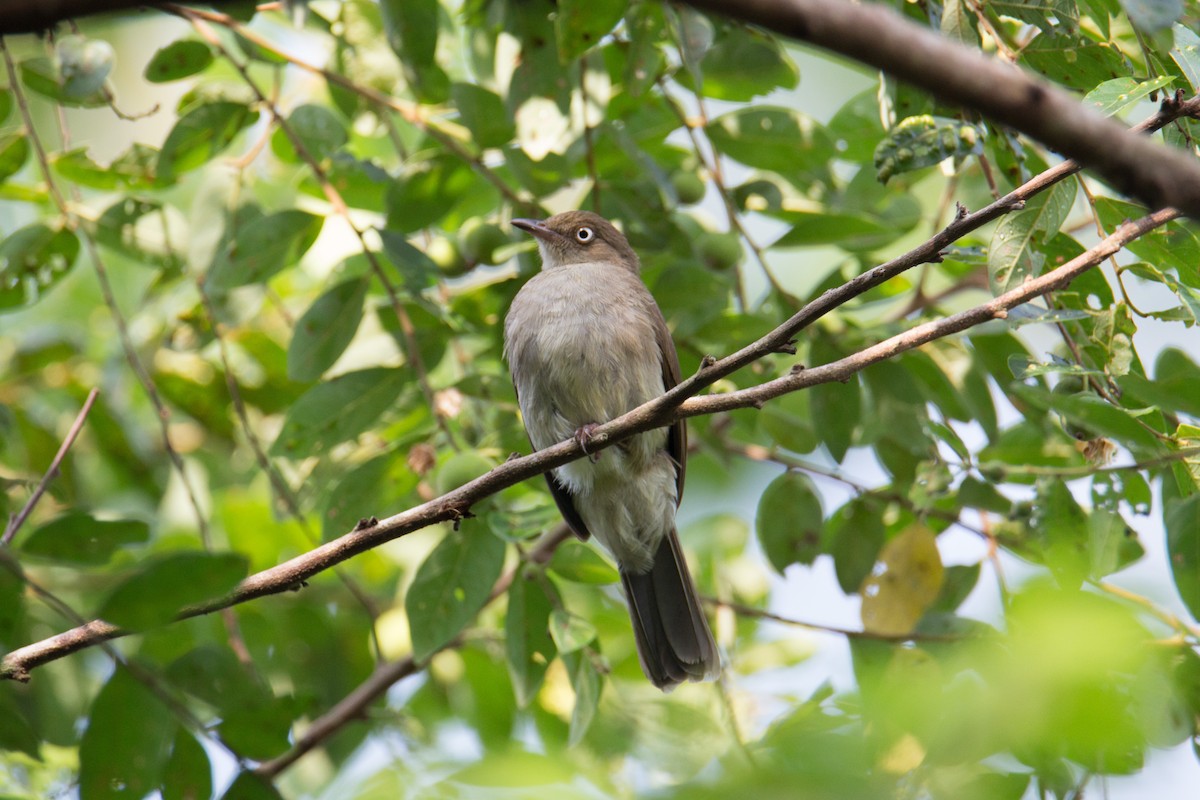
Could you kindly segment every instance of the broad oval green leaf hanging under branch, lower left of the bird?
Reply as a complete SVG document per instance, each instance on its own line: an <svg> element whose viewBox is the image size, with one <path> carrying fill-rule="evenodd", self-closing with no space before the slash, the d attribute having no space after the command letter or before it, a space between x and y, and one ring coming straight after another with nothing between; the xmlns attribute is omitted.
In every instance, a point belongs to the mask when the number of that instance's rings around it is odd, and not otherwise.
<svg viewBox="0 0 1200 800"><path fill-rule="evenodd" d="M451 530L421 563L404 596L418 662L475 619L500 577L504 549L504 542L488 533Z"/></svg>

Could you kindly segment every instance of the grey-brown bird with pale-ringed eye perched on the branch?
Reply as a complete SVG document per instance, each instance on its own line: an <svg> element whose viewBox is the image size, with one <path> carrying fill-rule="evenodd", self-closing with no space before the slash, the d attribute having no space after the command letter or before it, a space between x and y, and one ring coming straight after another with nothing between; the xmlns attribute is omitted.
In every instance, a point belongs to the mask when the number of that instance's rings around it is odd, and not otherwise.
<svg viewBox="0 0 1200 800"><path fill-rule="evenodd" d="M526 431L535 450L571 437L587 449L598 425L679 383L674 343L607 219L568 211L512 224L536 237L542 261L504 320ZM680 420L546 474L575 534L616 558L642 669L664 690L720 672L674 527L686 451Z"/></svg>

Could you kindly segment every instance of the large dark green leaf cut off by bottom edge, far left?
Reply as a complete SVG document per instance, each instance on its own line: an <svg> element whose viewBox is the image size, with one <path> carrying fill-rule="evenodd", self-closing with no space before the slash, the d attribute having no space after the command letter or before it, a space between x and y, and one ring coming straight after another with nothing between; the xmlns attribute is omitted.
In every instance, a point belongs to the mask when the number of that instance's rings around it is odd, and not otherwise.
<svg viewBox="0 0 1200 800"><path fill-rule="evenodd" d="M157 789L178 729L162 700L119 666L92 702L79 742L79 795L144 798Z"/></svg>

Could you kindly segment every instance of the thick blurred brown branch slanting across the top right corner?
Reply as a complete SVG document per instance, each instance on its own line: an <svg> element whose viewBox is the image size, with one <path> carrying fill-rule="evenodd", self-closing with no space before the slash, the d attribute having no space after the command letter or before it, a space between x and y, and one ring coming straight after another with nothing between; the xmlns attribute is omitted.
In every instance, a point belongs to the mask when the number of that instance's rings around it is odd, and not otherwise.
<svg viewBox="0 0 1200 800"><path fill-rule="evenodd" d="M1200 161L1130 136L1066 91L946 40L882 5L828 0L684 0L811 42L972 108L1096 170L1151 209L1200 218Z"/></svg>

